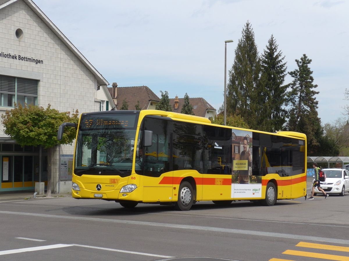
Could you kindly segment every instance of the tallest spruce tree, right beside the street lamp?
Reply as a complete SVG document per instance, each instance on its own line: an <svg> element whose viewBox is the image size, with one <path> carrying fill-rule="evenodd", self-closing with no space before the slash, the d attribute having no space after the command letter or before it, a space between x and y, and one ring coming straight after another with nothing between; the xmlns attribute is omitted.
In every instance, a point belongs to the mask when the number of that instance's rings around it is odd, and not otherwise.
<svg viewBox="0 0 349 261"><path fill-rule="evenodd" d="M251 128L259 128L261 114L260 59L254 32L246 22L235 49L235 59L229 71L227 114L242 116Z"/></svg>

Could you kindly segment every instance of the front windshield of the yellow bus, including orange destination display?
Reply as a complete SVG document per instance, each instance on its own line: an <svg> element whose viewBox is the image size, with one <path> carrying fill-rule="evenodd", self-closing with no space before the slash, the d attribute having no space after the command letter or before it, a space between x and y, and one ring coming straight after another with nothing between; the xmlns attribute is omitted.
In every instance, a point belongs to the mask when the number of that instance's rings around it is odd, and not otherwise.
<svg viewBox="0 0 349 261"><path fill-rule="evenodd" d="M130 175L138 114L92 114L82 117L74 174Z"/></svg>

